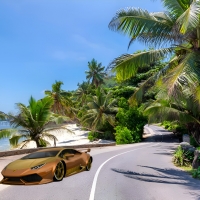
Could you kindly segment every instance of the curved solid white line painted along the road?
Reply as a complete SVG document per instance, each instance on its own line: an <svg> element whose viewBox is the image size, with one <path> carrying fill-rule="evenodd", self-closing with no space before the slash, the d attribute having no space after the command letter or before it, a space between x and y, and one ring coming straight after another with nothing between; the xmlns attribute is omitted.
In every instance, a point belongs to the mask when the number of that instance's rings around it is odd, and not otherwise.
<svg viewBox="0 0 200 200"><path fill-rule="evenodd" d="M126 152L117 154L117 155L115 155L115 156L109 158L108 160L106 160L104 163L102 163L101 166L100 166L100 167L98 168L98 170L96 171L96 174L95 174L95 176L94 176L94 180L93 180L93 183L92 183L92 188L91 188L91 191L90 191L90 198L89 198L89 200L94 200L95 189L96 189L97 178L98 178L99 172L100 172L101 168L102 168L108 161L110 161L111 159L113 159L113 158L115 158L115 157L117 157L117 156L120 156L120 155L122 155L122 154L129 153L129 152L131 152L131 151L136 151L136 150L139 150L139 149L145 149L145 148L157 146L158 144L160 144L160 143L157 143L157 144L154 144L154 145L151 145L151 146L148 146L148 147L142 147L142 148L138 148L138 149L134 149L134 150L130 150L130 151L126 151Z"/></svg>

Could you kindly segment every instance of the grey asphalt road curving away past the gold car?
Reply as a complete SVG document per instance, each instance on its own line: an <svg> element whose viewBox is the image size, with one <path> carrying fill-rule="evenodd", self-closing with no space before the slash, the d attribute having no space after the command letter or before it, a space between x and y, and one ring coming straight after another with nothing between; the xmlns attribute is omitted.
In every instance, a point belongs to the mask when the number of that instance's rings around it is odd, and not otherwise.
<svg viewBox="0 0 200 200"><path fill-rule="evenodd" d="M173 134L146 128L145 142L93 148L91 171L35 186L0 185L0 200L200 200L200 180L175 167ZM0 168L21 156L0 158Z"/></svg>

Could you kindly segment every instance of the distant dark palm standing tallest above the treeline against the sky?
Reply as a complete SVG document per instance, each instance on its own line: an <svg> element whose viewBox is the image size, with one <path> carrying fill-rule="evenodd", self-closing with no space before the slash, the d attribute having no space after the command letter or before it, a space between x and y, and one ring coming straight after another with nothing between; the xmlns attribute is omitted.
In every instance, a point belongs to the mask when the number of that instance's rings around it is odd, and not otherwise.
<svg viewBox="0 0 200 200"><path fill-rule="evenodd" d="M97 88L103 83L103 79L106 76L104 72L105 67L102 67L101 63L97 63L95 59L92 59L91 62L88 62L89 71L86 71L86 79L89 81L92 80L92 84Z"/></svg>

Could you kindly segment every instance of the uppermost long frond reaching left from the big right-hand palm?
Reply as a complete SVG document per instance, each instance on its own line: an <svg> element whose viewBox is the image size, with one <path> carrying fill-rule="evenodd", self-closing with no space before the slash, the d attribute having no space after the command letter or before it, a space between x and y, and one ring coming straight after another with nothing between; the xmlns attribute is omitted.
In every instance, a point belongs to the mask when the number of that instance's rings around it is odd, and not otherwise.
<svg viewBox="0 0 200 200"><path fill-rule="evenodd" d="M127 34L132 44L133 41L139 39L146 44L152 46L159 43L153 42L157 40L171 41L171 29L173 21L167 13L149 13L146 10L127 8L118 11L109 23L109 28L114 31ZM148 34L147 34L148 33Z"/></svg>

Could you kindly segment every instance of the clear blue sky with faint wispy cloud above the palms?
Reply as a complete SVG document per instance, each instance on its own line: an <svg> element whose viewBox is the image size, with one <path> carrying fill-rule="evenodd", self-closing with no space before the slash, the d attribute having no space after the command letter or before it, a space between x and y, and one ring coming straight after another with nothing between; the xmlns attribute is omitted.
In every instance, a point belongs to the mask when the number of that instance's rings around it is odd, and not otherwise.
<svg viewBox="0 0 200 200"><path fill-rule="evenodd" d="M0 111L43 98L55 81L63 90L86 80L93 58L107 67L124 53L148 49L111 31L120 9L164 11L159 0L0 0Z"/></svg>

